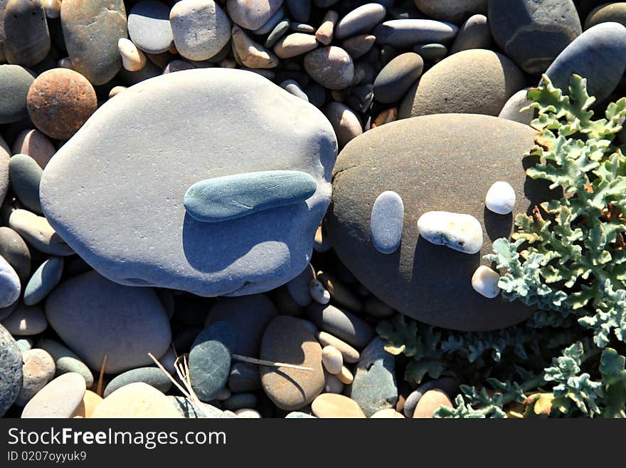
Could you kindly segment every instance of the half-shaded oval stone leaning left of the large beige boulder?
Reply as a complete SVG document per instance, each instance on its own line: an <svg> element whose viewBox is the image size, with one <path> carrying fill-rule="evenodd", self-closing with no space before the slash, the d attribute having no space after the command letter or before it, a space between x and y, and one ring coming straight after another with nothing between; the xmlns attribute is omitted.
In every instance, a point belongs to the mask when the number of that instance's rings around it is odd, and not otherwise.
<svg viewBox="0 0 626 468"><path fill-rule="evenodd" d="M374 81L374 98L383 104L393 103L405 95L420 78L424 61L417 53L402 53L385 66Z"/></svg>

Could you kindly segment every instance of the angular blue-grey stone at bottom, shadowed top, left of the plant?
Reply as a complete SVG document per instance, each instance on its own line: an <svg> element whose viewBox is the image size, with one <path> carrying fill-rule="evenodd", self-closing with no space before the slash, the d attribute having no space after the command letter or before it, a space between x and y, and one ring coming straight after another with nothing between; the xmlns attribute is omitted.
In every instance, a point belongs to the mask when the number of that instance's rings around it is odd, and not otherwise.
<svg viewBox="0 0 626 468"><path fill-rule="evenodd" d="M376 337L361 352L356 364L349 397L356 401L367 417L379 410L396 406L396 359L385 350L386 341Z"/></svg>

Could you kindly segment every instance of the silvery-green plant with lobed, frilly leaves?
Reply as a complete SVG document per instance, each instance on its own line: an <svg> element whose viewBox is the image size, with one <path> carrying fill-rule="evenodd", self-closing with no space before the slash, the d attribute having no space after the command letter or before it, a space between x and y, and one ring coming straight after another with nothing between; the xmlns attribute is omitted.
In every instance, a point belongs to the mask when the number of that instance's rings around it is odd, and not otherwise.
<svg viewBox="0 0 626 468"><path fill-rule="evenodd" d="M576 75L567 95L543 76L528 97L539 133L526 174L563 197L518 214L512 239L497 239L484 258L505 298L539 311L489 333L401 316L378 333L390 353L410 358L407 380L472 383L435 417L626 417L626 148L614 141L626 98L593 120L595 98Z"/></svg>

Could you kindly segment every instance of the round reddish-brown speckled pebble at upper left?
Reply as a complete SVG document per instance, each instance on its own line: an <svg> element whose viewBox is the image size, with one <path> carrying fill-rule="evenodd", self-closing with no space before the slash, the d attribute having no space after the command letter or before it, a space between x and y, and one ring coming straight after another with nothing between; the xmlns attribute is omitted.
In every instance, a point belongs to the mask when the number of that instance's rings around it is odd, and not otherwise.
<svg viewBox="0 0 626 468"><path fill-rule="evenodd" d="M28 90L26 103L35 126L58 140L74 135L97 108L91 83L67 68L41 73Z"/></svg>

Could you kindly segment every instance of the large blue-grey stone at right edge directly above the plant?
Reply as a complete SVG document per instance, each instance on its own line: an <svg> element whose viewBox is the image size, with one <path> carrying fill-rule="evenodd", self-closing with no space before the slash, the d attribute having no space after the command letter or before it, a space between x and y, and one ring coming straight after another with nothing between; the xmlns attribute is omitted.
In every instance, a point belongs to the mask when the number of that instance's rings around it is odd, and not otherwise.
<svg viewBox="0 0 626 468"><path fill-rule="evenodd" d="M587 91L602 102L626 70L626 27L600 23L575 38L546 71L556 88L567 90L572 73L587 78Z"/></svg>

